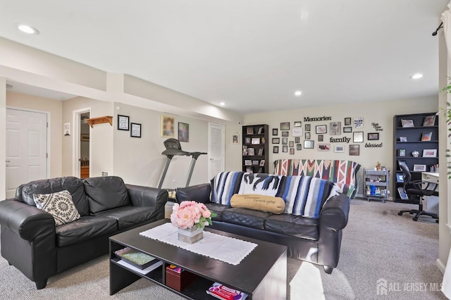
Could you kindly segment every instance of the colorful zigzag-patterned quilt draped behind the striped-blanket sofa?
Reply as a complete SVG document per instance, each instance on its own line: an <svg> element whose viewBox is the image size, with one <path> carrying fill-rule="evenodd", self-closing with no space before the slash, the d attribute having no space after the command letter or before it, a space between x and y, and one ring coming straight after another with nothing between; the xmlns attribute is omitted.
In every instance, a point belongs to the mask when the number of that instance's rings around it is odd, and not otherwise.
<svg viewBox="0 0 451 300"><path fill-rule="evenodd" d="M357 194L357 172L361 165L354 161L278 159L274 166L274 174L318 177L334 182L350 199Z"/></svg>

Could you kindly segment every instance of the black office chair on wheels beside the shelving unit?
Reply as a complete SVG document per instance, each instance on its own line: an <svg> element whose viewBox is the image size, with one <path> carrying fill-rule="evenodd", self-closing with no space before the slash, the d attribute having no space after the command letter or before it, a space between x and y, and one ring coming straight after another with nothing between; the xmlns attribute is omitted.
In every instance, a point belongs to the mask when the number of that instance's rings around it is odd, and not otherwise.
<svg viewBox="0 0 451 300"><path fill-rule="evenodd" d="M407 196L413 195L413 196L419 196L419 207L418 209L411 209L409 211L400 211L397 213L398 215L402 215L403 213L410 213L413 215L415 213L415 216L413 218L414 221L418 220L418 217L420 215L429 215L430 217L437 219L435 220L436 223L438 223L438 215L436 213L429 213L428 211L423 211L423 200L424 196L432 196L435 192L435 189L437 189L437 185L426 182L426 188L423 189L422 185L423 182L421 180L412 180L412 175L409 172L409 168L407 168L407 165L404 165L403 163L400 163L400 168L402 170L402 179L404 182L404 192L407 194ZM407 185L413 188L406 188ZM430 186L434 185L433 189L429 189Z"/></svg>

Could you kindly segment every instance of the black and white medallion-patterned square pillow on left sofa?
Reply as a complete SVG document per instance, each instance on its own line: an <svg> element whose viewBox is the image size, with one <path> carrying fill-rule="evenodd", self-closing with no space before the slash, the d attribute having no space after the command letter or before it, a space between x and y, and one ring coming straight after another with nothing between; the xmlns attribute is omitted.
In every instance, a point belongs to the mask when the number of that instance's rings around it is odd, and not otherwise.
<svg viewBox="0 0 451 300"><path fill-rule="evenodd" d="M80 218L72 196L68 190L53 194L33 194L36 207L53 215L56 226L70 223Z"/></svg>

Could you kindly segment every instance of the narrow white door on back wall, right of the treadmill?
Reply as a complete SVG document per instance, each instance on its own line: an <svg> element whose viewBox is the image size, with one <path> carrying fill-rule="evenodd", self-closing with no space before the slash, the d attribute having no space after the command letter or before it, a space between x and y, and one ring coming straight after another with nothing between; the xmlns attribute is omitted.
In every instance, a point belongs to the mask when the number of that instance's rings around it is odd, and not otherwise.
<svg viewBox="0 0 451 300"><path fill-rule="evenodd" d="M224 153L224 126L209 123L209 180L223 172Z"/></svg>

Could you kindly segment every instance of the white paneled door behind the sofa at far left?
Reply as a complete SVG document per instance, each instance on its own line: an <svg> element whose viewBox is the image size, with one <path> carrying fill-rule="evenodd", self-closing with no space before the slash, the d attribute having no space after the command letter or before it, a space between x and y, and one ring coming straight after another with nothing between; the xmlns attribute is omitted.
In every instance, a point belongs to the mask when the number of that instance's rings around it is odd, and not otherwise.
<svg viewBox="0 0 451 300"><path fill-rule="evenodd" d="M32 180L47 178L47 114L6 109L6 198Z"/></svg>

